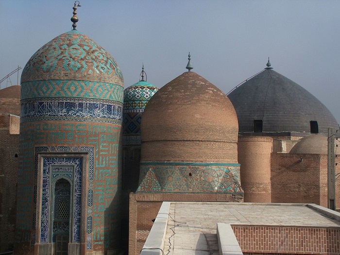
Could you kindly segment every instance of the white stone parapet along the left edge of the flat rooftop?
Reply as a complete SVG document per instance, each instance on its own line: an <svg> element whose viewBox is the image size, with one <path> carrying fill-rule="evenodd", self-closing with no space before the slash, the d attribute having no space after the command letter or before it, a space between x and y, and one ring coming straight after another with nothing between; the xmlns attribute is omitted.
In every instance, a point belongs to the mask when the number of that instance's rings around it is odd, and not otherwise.
<svg viewBox="0 0 340 255"><path fill-rule="evenodd" d="M163 202L140 255L162 255L171 202Z"/></svg>

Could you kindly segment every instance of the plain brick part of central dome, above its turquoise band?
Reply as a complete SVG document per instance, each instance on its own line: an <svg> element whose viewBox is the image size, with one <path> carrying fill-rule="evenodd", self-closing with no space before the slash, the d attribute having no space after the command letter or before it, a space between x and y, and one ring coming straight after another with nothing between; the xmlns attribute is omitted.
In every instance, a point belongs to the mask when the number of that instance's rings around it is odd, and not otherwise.
<svg viewBox="0 0 340 255"><path fill-rule="evenodd" d="M148 102L141 141L142 161L237 163L238 119L219 88L185 72Z"/></svg>

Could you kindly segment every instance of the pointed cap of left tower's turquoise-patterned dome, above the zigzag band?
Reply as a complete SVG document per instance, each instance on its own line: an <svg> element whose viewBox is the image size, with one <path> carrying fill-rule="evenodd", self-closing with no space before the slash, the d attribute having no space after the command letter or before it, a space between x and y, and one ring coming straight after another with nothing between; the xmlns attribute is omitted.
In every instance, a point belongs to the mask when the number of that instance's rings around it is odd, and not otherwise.
<svg viewBox="0 0 340 255"><path fill-rule="evenodd" d="M21 83L65 79L123 86L122 73L112 56L77 30L55 37L36 51L21 75Z"/></svg>

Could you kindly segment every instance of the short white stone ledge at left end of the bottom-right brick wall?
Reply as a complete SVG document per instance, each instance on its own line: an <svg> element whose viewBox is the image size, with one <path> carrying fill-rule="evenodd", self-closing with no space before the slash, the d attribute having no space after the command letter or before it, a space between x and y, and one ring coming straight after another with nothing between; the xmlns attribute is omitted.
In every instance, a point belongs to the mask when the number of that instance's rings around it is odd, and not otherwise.
<svg viewBox="0 0 340 255"><path fill-rule="evenodd" d="M217 240L220 255L243 255L230 224L217 223Z"/></svg>

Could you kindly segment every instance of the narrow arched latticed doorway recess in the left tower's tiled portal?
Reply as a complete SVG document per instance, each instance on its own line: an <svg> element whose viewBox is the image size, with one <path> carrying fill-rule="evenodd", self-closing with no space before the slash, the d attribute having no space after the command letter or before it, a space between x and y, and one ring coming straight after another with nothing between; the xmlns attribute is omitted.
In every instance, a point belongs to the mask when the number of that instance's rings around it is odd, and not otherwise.
<svg viewBox="0 0 340 255"><path fill-rule="evenodd" d="M53 232L55 255L68 255L71 225L71 185L68 180L61 178L55 182L53 192Z"/></svg>

